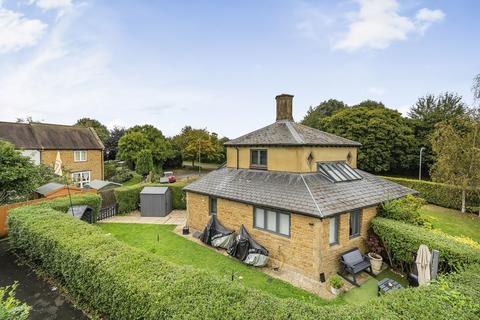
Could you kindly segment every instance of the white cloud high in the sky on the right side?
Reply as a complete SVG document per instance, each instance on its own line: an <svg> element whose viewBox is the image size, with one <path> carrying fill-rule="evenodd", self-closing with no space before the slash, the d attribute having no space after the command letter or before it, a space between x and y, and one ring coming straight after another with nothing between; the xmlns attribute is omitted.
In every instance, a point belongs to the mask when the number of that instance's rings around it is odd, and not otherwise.
<svg viewBox="0 0 480 320"><path fill-rule="evenodd" d="M361 48L385 49L395 41L403 41L412 33L423 33L430 25L444 18L441 10L423 8L416 19L399 14L396 0L358 0L360 10L350 14L349 30L334 48L355 51Z"/></svg>

